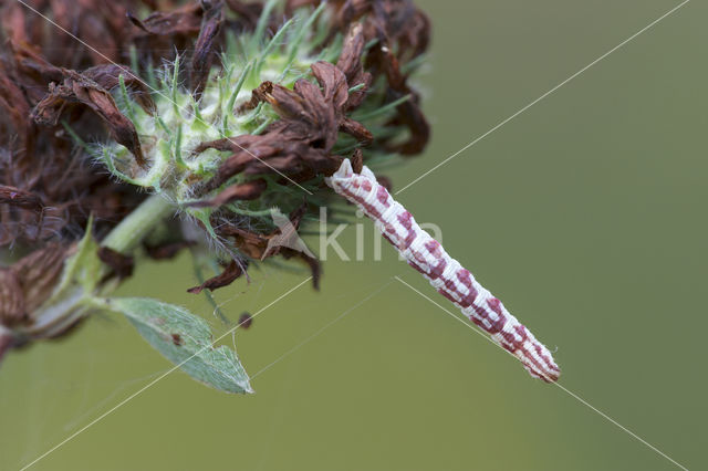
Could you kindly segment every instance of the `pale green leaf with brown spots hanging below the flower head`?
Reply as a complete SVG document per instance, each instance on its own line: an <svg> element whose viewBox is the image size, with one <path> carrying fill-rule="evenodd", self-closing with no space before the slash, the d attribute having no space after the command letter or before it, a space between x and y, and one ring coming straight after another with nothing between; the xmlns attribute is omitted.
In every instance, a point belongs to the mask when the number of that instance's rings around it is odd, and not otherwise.
<svg viewBox="0 0 708 471"><path fill-rule="evenodd" d="M148 297L110 299L105 306L124 314L154 348L194 379L225 393L253 393L236 352L215 347L201 317Z"/></svg>

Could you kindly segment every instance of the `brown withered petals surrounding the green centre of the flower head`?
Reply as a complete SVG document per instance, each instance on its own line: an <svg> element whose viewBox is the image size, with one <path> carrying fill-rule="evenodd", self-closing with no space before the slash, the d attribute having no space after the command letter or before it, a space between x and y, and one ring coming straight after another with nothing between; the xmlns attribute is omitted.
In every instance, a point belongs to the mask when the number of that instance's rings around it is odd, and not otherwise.
<svg viewBox="0 0 708 471"><path fill-rule="evenodd" d="M135 187L112 179L76 146L69 129L85 140L113 139L124 145L134 158L133 169L139 171L148 164L145 142L121 112L112 91L122 75L143 109L153 113L155 104L148 87L137 78L144 71L133 71L128 64L157 66L179 53L187 57L183 62L187 64L186 86L199 97L218 62L226 32L253 30L263 10L260 1L238 0L28 3L81 41L48 28L45 19L20 3L0 0L0 107L4 112L0 114L0 255L9 249L28 253L10 264L0 259L0 324L10 328L32 325L33 311L51 295L90 216L101 239L146 198ZM284 15L319 3L287 0ZM158 6L160 10L155 11ZM152 13L144 14L146 10ZM415 155L423 150L429 126L400 64L427 49L426 15L408 0L333 0L329 10L330 39L337 33L344 36L336 64L314 63L310 71L314 81L299 80L293 90L271 82L256 88L244 106L268 104L279 118L258 135L205 142L195 149L197 154L214 148L231 155L200 188L194 207L219 208L262 198L269 190L266 177L291 185L275 170L299 184L330 176L344 157L333 154L340 134L352 136L360 146L375 145L392 153ZM273 14L271 31L278 29L282 17ZM373 45L366 50L366 44ZM410 96L386 124L408 129L403 143L377 139L350 117L376 81L385 81L381 105ZM354 85L363 86L350 93ZM363 165L360 149L347 157L353 157L355 167ZM212 195L235 177L247 178ZM305 201L291 212L295 230L312 209ZM243 257L226 260L221 274L189 292L229 285L247 274L250 259L274 255L302 259L319 285L316 259L288 248L269 249L271 239L283 236L279 229L244 227L218 209L211 218L218 236L231 241ZM144 247L149 257L164 260L192 243L170 232L169 240L144 241ZM133 273L135 260L127 254L103 248L98 257L118 279ZM8 341L0 335L0 357L7 348Z"/></svg>

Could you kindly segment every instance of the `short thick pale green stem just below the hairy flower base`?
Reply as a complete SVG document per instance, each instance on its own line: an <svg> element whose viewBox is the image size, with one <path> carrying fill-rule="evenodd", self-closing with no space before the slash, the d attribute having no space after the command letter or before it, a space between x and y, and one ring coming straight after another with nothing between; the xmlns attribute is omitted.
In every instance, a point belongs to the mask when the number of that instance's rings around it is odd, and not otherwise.
<svg viewBox="0 0 708 471"><path fill-rule="evenodd" d="M143 241L159 222L175 211L173 203L160 195L153 195L116 226L101 245L116 252L129 252Z"/></svg>

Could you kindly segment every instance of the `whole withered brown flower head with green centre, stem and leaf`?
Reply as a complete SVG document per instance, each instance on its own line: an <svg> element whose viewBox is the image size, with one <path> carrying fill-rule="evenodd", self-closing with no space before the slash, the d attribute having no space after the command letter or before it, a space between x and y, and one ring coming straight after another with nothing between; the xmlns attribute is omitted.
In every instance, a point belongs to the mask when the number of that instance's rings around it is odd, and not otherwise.
<svg viewBox="0 0 708 471"><path fill-rule="evenodd" d="M317 260L274 243L290 236L271 210L300 231L345 157L423 149L407 78L426 17L407 0L28 4L0 6L0 247L14 262L0 271L0 352L108 310L195 378L250 391L199 317L110 293L139 247L223 266L192 293L274 255L304 261L316 286Z"/></svg>

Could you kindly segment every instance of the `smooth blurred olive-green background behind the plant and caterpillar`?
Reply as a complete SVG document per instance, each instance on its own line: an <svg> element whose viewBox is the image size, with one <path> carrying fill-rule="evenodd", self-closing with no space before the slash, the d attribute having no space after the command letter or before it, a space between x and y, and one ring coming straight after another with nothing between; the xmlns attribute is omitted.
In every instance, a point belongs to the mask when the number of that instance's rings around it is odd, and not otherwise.
<svg viewBox="0 0 708 471"><path fill-rule="evenodd" d="M388 170L398 188L678 4L418 3L435 33L419 81L434 139ZM705 2L687 3L398 196L558 348L561 385L689 469L708 461L707 20ZM320 293L302 286L237 332L256 395L174 373L32 469L676 469L392 281L445 302L391 248L371 261L372 224L365 233L365 261L327 261ZM354 238L351 227L341 239L350 253ZM209 317L185 293L188 259L178 264L149 265L122 293ZM252 274L217 292L231 318L305 278ZM0 469L21 468L168 368L118 317L11 355Z"/></svg>

